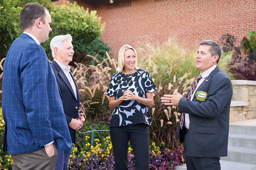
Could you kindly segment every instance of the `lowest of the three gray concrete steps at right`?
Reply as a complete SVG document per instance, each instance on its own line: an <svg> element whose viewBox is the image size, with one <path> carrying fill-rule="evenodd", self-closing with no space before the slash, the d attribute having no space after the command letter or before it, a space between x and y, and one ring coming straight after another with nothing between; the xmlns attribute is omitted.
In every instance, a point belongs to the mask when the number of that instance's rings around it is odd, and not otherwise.
<svg viewBox="0 0 256 170"><path fill-rule="evenodd" d="M221 159L256 164L256 149L228 146L228 156Z"/></svg>

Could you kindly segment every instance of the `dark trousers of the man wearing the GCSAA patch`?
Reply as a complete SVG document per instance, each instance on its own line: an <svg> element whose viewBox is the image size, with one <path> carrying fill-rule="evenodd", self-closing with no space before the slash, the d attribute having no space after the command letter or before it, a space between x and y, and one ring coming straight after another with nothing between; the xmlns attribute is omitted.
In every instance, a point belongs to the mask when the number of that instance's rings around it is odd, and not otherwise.
<svg viewBox="0 0 256 170"><path fill-rule="evenodd" d="M217 158L201 158L187 156L188 134L184 136L183 146L186 159L187 170L220 170L220 157Z"/></svg>

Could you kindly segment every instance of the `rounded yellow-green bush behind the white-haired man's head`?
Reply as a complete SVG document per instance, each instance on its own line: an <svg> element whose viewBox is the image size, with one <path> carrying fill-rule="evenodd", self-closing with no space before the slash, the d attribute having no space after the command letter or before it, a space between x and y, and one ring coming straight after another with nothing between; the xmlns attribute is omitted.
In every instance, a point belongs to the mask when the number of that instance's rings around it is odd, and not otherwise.
<svg viewBox="0 0 256 170"><path fill-rule="evenodd" d="M51 58L52 56L50 49L52 37L69 33L74 39L72 42L75 48L73 59L80 62L81 58L86 55L86 48L92 41L101 36L105 27L105 23L100 24L101 17L96 13L97 11L89 13L88 9L85 11L76 2L73 4L68 2L67 5L60 6L54 4L52 11L50 11L52 18L50 40L42 45L48 57Z"/></svg>

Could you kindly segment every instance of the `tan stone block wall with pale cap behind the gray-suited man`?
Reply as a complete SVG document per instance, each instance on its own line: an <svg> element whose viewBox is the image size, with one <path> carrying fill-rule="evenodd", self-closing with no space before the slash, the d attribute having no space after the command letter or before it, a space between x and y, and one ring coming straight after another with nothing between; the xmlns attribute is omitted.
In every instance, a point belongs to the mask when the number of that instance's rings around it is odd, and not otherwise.
<svg viewBox="0 0 256 170"><path fill-rule="evenodd" d="M256 118L256 81L232 80L232 85L229 122Z"/></svg>

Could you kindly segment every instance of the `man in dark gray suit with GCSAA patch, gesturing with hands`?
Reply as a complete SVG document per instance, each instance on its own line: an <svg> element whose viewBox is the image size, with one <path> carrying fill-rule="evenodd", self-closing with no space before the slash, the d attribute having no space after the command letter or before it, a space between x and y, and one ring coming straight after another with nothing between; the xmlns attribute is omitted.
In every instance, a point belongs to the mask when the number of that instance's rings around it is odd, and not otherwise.
<svg viewBox="0 0 256 170"><path fill-rule="evenodd" d="M184 145L188 170L220 170L220 157L228 155L229 110L232 84L219 69L222 50L215 41L202 41L197 50L196 68L201 71L186 98L161 97L165 105L179 108L177 137Z"/></svg>

